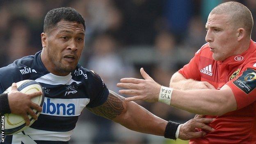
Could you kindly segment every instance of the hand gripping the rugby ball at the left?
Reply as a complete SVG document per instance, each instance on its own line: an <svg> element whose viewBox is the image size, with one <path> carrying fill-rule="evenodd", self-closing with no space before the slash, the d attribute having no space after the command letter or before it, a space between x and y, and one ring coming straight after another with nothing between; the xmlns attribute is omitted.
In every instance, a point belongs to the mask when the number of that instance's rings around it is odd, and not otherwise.
<svg viewBox="0 0 256 144"><path fill-rule="evenodd" d="M42 107L33 103L31 99L40 96L41 94L41 91L37 91L33 94L24 94L18 91L16 83L13 83L11 85L11 92L8 94L11 113L21 115L25 119L26 125L30 124L30 119L27 114L30 114L33 119L37 120L37 114L35 114L31 108L42 112Z"/></svg>

